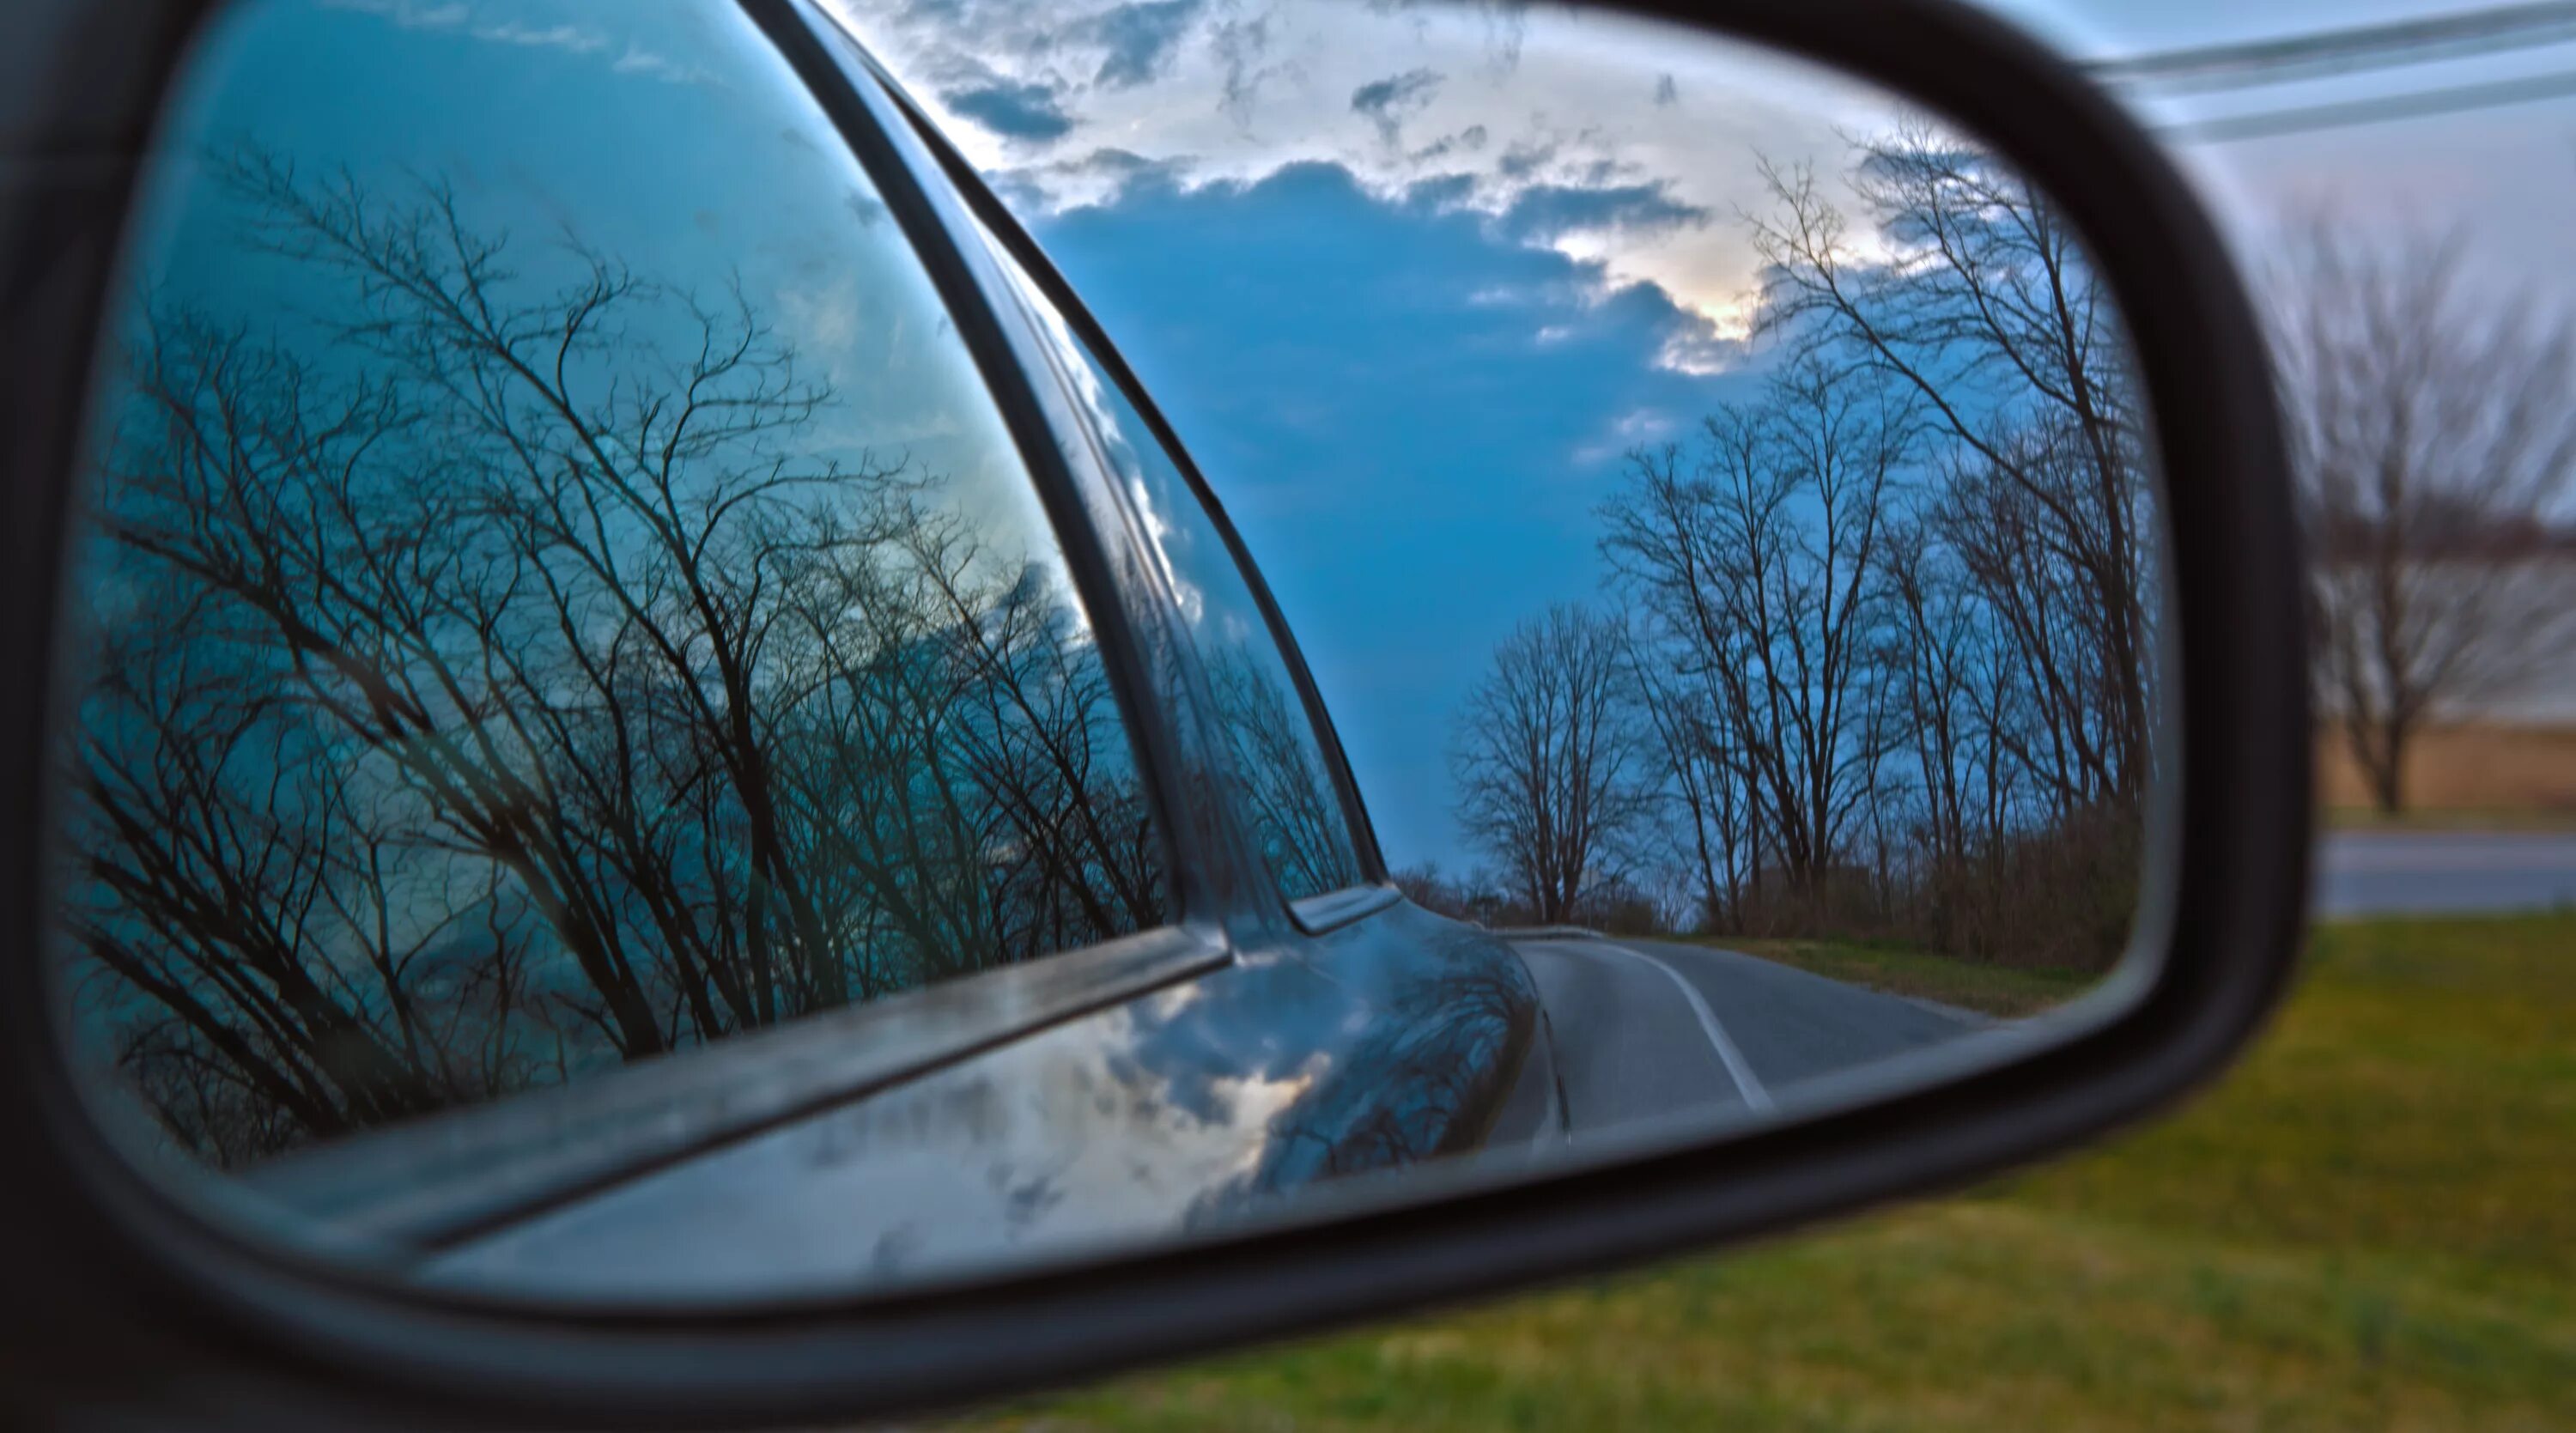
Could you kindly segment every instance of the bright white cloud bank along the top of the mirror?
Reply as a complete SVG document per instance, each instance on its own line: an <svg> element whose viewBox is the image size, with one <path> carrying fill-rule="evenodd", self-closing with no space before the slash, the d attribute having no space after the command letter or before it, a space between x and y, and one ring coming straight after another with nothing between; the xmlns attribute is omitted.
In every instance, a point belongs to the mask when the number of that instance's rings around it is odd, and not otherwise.
<svg viewBox="0 0 2576 1433"><path fill-rule="evenodd" d="M1600 13L1208 0L1170 36L1154 82L1103 85L1084 80L1100 64L1084 36L1115 8L1100 0L827 3L896 75L920 80L914 98L1023 206L1103 204L1146 168L1195 188L1303 160L1342 165L1386 198L1437 178L1448 204L1497 222L1533 193L1659 193L1662 209L1638 198L1620 222L1530 224L1520 237L1600 260L1610 284L1654 281L1710 320L1718 338L1674 345L1669 366L1682 371L1716 371L1723 340L1741 338L1757 273L1739 214L1765 206L1757 155L1816 160L1832 175L1842 134L1883 129L1899 111L1803 62ZM961 64L1048 85L1072 121L1048 152L1118 152L1126 175L1025 165L925 93ZM1553 214L1579 209L1556 201ZM1700 219L1674 219L1690 214Z"/></svg>

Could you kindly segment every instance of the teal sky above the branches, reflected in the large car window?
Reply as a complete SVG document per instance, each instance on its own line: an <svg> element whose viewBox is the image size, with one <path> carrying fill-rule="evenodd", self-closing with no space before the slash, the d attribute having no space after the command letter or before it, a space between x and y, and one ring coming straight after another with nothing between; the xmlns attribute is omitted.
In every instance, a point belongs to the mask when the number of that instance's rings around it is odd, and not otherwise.
<svg viewBox="0 0 2576 1433"><path fill-rule="evenodd" d="M448 183L466 224L507 237L528 294L577 271L574 245L714 309L739 286L801 376L835 389L801 456L907 461L948 479L943 503L1005 557L1051 549L873 183L729 5L270 0L227 15L198 75L162 170L191 204L152 214L142 255L165 299L327 317L299 302L289 263L242 247L237 209L201 198L206 152L258 144L384 198ZM778 95L742 93L744 75Z"/></svg>

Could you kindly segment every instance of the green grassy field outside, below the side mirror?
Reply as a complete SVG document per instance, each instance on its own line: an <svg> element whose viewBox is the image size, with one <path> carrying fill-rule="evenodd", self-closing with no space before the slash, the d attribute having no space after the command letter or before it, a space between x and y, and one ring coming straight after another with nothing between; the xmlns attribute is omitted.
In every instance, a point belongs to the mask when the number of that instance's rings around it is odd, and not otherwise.
<svg viewBox="0 0 2576 1433"><path fill-rule="evenodd" d="M2215 1093L1960 1198L958 1428L2576 1428L2576 918L2326 928Z"/></svg>

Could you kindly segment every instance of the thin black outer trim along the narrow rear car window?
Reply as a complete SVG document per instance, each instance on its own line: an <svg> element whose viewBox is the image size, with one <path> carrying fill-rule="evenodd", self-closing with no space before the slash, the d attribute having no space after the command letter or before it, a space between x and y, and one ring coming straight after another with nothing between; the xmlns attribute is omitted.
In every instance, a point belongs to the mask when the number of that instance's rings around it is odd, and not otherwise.
<svg viewBox="0 0 2576 1433"><path fill-rule="evenodd" d="M837 21L827 23L837 26ZM1118 345L1110 343L1108 330L1100 327L1100 320L1092 317L1090 307L1082 304L1082 296L1074 294L1072 284L1064 281L1064 273L1059 273L1054 260L1046 258L1046 250L1038 247L1038 240L1033 240L1028 229L1020 227L1018 216L1012 216L1010 209L1002 204L1002 198L992 193L992 188L984 183L984 178L974 173L974 165L966 162L966 157L948 142L948 137L943 137L938 126L930 124L930 116L920 108L920 103L912 101L912 95L894 80L894 75L889 75L884 64L878 64L878 59L866 49L860 49L860 57L871 77L878 82L878 88L894 101L902 116L912 124L912 134L938 162L951 188L956 188L956 193L966 198L966 206L974 211L974 216L994 235L997 242L1002 242L1005 250L1010 250L1012 260L1018 260L1020 268L1028 271L1038 291L1064 314L1066 327L1074 332L1074 340L1079 340L1084 351L1090 351L1090 356L1100 363L1108 379L1118 384L1118 394L1128 402L1128 407L1133 407L1136 415L1144 418L1146 433L1154 438L1154 443L1162 446L1164 456L1170 456L1172 466L1190 487L1190 495L1198 500L1200 510L1208 515L1208 521L1216 526L1216 534L1224 539L1226 552L1234 557L1234 567L1242 575L1244 588L1252 590L1252 601L1255 606L1260 606L1262 621L1270 629L1270 639L1278 647L1283 665L1288 668L1288 678L1291 683L1296 683L1298 701L1306 709L1306 722L1316 737L1316 750L1324 758L1324 771L1334 786L1334 796L1342 804L1342 825L1350 830L1352 856L1360 861L1360 881L1340 887L1334 892L1291 899L1285 905L1291 918L1309 936L1321 936L1324 930L1350 920L1350 918L1337 918L1329 925L1319 928L1311 923L1309 907L1316 907L1316 902L1332 902L1337 897L1350 897L1355 892L1373 892L1378 887L1386 887L1391 879L1386 869L1386 853L1378 845L1378 827L1368 817L1368 804L1360 796L1360 784L1350 773L1350 755L1342 747L1342 735L1332 724L1332 711L1324 706L1324 696L1314 683L1314 670L1306 665L1306 652L1296 644L1296 634L1288 629L1288 619L1280 613L1278 598L1270 593L1270 582L1262 577L1260 564L1252 562L1252 552L1249 546L1244 546L1244 539L1236 531L1234 518L1226 513L1226 505L1208 487L1206 474L1198 469L1198 459L1193 459L1188 446L1182 446L1180 433L1172 430L1172 423L1162 415L1162 407L1154 405L1154 397L1144 392L1144 384L1136 379L1136 371L1128 369L1126 356L1121 356ZM1368 910L1378 907L1370 905Z"/></svg>

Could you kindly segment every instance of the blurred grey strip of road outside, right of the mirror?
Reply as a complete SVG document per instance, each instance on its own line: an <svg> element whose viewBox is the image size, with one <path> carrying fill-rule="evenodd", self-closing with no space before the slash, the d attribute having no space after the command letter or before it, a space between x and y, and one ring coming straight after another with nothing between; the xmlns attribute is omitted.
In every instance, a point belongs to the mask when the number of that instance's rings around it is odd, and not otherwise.
<svg viewBox="0 0 2576 1433"><path fill-rule="evenodd" d="M2316 915L2576 905L2576 832L2339 830L2316 843Z"/></svg>

